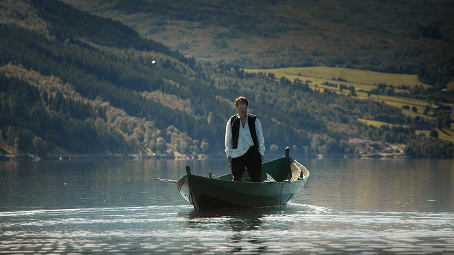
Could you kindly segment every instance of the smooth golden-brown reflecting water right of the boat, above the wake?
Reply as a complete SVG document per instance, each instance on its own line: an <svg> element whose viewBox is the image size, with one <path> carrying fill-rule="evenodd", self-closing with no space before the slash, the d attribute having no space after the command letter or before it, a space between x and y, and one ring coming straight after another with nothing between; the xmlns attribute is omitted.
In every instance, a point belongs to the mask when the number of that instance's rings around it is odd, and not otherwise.
<svg viewBox="0 0 454 255"><path fill-rule="evenodd" d="M346 210L454 210L453 160L310 160L297 202Z"/></svg>

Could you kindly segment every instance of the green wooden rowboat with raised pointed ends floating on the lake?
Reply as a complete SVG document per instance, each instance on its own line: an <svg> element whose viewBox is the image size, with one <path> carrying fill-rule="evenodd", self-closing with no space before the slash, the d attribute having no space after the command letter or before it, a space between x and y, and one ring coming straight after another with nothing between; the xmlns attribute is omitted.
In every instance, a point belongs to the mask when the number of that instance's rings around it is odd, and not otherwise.
<svg viewBox="0 0 454 255"><path fill-rule="evenodd" d="M251 182L244 171L241 182L232 181L231 173L208 177L193 175L186 166L186 175L177 181L177 190L194 206L194 210L224 210L285 206L297 197L307 184L309 171L286 155L262 164L262 182Z"/></svg>

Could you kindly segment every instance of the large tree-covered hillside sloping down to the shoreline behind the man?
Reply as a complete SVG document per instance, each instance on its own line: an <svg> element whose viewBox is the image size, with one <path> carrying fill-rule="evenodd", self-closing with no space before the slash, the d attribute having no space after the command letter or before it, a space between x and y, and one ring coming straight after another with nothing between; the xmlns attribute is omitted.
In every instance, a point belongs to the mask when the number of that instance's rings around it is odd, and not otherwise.
<svg viewBox="0 0 454 255"><path fill-rule="evenodd" d="M271 153L358 156L350 139L359 138L407 145L412 157L454 156L452 143L416 137L420 120L399 108L197 62L118 21L60 1L29 3L45 32L0 24L0 154L222 154L233 101L244 95Z"/></svg>

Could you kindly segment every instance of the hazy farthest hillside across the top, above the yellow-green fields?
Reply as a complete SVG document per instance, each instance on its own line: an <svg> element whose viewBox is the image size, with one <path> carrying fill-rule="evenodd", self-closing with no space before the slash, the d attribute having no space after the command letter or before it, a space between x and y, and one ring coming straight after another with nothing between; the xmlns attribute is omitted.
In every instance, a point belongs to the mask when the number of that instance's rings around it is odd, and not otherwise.
<svg viewBox="0 0 454 255"><path fill-rule="evenodd" d="M64 1L197 60L454 77L454 1Z"/></svg>

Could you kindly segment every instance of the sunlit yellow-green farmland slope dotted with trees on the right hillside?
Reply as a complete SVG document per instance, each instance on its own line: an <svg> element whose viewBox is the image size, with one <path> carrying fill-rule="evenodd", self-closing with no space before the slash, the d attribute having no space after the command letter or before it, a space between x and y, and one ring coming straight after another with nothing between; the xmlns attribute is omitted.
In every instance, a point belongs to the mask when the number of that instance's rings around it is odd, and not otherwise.
<svg viewBox="0 0 454 255"><path fill-rule="evenodd" d="M433 125L416 125L410 123L416 133L427 134L427 127L438 130L440 138L454 142L454 130L451 120L454 113L454 93L439 93L431 86L418 81L416 75L377 73L357 69L313 66L282 69L244 69L247 73L260 73L275 77L276 80L288 79L291 82L304 80L312 90L329 90L339 95L346 95L362 100L382 102L389 106L401 108L406 117L425 119ZM399 85L397 85L399 84ZM392 119L381 117L372 121L359 119L367 125L381 127L396 126ZM408 124L408 123L407 123ZM425 127L426 130L420 130Z"/></svg>

